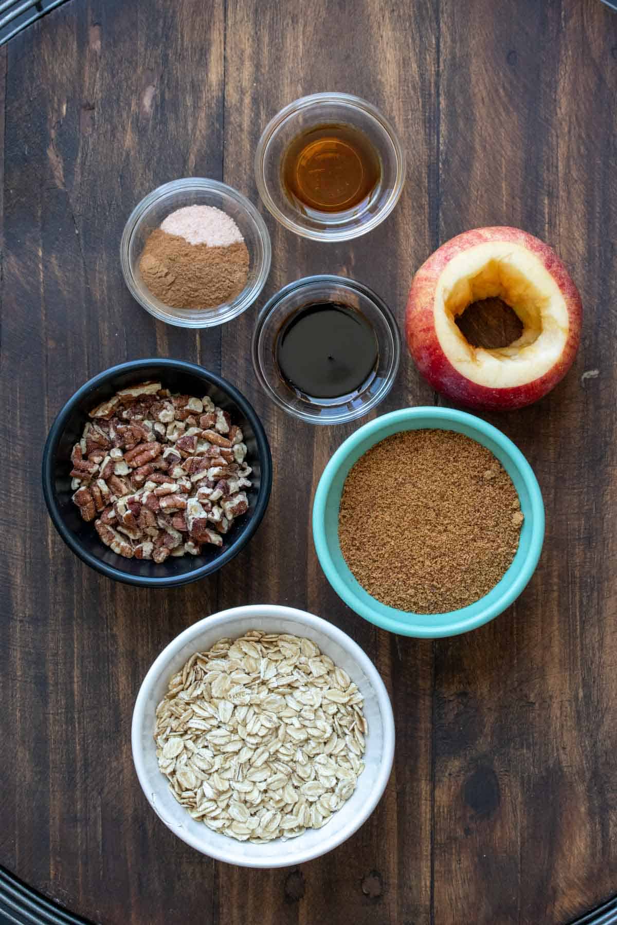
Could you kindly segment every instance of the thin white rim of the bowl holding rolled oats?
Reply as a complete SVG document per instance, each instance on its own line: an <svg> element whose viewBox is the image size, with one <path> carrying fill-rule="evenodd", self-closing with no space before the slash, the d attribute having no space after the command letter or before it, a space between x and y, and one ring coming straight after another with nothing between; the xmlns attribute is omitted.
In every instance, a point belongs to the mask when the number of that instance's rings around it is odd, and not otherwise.
<svg viewBox="0 0 617 925"><path fill-rule="evenodd" d="M295 618L300 623L312 627L318 633L327 635L333 642L338 643L341 648L345 648L350 653L353 660L358 663L358 666L375 689L379 711L383 721L382 761L375 787L373 788L370 798L364 803L361 812L356 817L349 820L347 825L345 825L336 836L331 838L326 837L321 845L318 845L313 850L304 853L298 852L295 857L291 857L289 860L286 859L286 857L283 857L280 861L273 861L272 858L264 858L264 861L260 862L259 859L253 860L253 858L251 858L251 863L247 863L246 859L236 856L232 845L228 851L206 851L204 850L204 845L202 845L198 839L193 838L191 833L186 832L184 829L172 829L167 825L167 822L164 820L161 821L167 826L170 832L173 832L181 838L183 842L186 842L187 845L191 845L192 848L195 848L201 854L206 855L206 857L214 857L219 861L226 861L228 864L254 869L282 868L289 867L290 865L303 864L305 861L313 860L315 857L321 857L333 848L338 847L338 845L342 845L343 842L346 842L354 832L357 832L357 830L364 825L364 822L371 815L383 796L394 761L394 714L392 712L392 704L390 703L386 685L379 672L377 672L375 665L364 652L364 649L360 648L360 646L353 641L351 636L343 633L343 631L339 630L338 626L335 626L333 623L328 623L327 620L315 616L314 613L301 611L295 607L285 607L282 604L249 604L245 607L232 607L227 611L219 611L218 613L213 613L212 616L204 617L204 619L198 621L198 623L193 623L188 629L176 636L175 639L172 639L166 648L163 649L160 655L154 660L151 668L142 681L137 699L135 700L130 733L135 771L137 771L143 794L150 808L154 809L154 812L156 812L158 816L158 812L154 807L154 802L148 792L148 774L145 771L141 746L142 728L145 722L146 704L150 694L150 688L160 675L168 670L167 665L169 660L172 659L181 648L184 648L188 643L191 643L193 639L201 635L205 627L207 627L208 630L216 626L224 627L229 623L233 623L236 618L240 617L254 617L255 619L258 617ZM222 635L225 634L223 633ZM158 816L158 818L161 819L160 816Z"/></svg>

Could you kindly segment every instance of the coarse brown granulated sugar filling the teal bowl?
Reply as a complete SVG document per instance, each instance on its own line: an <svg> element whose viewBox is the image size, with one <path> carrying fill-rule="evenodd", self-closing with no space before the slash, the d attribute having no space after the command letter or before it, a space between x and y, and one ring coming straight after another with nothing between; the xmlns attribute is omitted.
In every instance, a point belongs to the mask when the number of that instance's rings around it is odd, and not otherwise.
<svg viewBox="0 0 617 925"><path fill-rule="evenodd" d="M450 430L406 430L377 443L347 475L340 551L383 604L454 611L484 597L512 564L520 507L486 447Z"/></svg>

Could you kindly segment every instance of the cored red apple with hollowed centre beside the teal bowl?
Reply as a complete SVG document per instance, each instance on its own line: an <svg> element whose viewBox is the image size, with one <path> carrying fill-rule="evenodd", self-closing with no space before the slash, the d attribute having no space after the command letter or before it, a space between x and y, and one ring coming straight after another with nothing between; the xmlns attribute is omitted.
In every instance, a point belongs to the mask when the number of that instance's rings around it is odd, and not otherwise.
<svg viewBox="0 0 617 925"><path fill-rule="evenodd" d="M498 297L523 332L508 347L473 347L455 318ZM581 299L557 254L519 228L475 228L431 254L413 277L406 335L428 382L452 401L508 411L546 395L578 349Z"/></svg>

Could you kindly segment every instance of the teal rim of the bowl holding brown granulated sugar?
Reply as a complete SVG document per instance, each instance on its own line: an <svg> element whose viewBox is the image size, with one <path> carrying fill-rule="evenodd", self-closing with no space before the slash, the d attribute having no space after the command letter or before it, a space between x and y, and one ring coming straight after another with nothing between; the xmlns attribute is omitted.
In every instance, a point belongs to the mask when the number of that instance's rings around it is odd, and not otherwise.
<svg viewBox="0 0 617 925"><path fill-rule="evenodd" d="M465 425L472 431L475 431L475 433L481 434L483 437L494 441L503 452L504 456L508 458L509 462L512 462L513 468L521 475L530 500L530 511L525 512L525 520L528 518L531 520L529 548L524 559L518 565L516 561L512 562L510 569L508 569L504 578L501 579L501 581L503 581L508 574L512 573L512 569L516 568L516 576L512 584L504 590L500 597L494 599L490 604L483 604L486 598L480 598L475 601L474 604L470 604L468 607L461 610L435 614L436 618L439 620L439 625L434 627L413 623L414 616L426 619L426 614L397 611L392 607L387 607L375 598L371 598L371 601L374 603L368 606L363 600L359 599L353 590L353 584L357 585L359 588L361 588L361 586L358 585L355 578L353 578L347 565L345 565L345 568L349 573L348 582L341 578L337 565L332 561L328 549L325 526L326 504L332 488L332 483L339 474L341 467L348 461L353 450L356 450L367 437L371 437L375 434L378 435L389 425L403 424L409 420L418 421L423 419L426 419L426 428L439 428L443 426L444 429L449 429L447 426L448 424L456 423ZM385 435L383 439L385 439L386 436L389 435ZM378 441L379 438L377 437L372 445L375 445ZM349 468L351 468L351 465ZM319 564L328 582L337 592L339 598L342 598L342 600L352 608L352 611L364 617L364 620L367 620L369 623L374 623L382 629L389 630L390 633L409 635L423 639L437 639L444 636L466 633L469 630L484 625L484 623L488 623L502 611L505 611L505 609L512 604L512 601L518 598L536 570L537 561L540 558L544 541L544 524L544 502L542 500L540 487L537 484L536 475L534 475L533 469L524 458L521 450L512 443L512 440L506 437L497 427L487 424L486 421L476 417L475 414L457 411L452 408L434 408L430 406L403 408L400 411L382 414L380 417L375 418L375 420L369 421L367 424L359 427L351 437L348 437L339 446L339 449L336 450L332 458L327 462L323 475L319 479L313 505L313 538L317 559L319 560ZM351 581L349 581L350 578ZM499 587L499 585L496 587ZM361 590L366 594L364 589L361 588ZM493 588L489 594L493 594L494 590L495 588Z"/></svg>

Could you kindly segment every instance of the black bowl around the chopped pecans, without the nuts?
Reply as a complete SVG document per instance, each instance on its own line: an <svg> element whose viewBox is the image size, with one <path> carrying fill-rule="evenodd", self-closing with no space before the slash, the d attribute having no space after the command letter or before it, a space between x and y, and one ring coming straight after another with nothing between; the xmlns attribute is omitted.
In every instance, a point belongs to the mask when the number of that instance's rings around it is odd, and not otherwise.
<svg viewBox="0 0 617 925"><path fill-rule="evenodd" d="M111 398L118 388L146 379L160 379L172 392L209 395L241 426L246 460L253 468L253 487L247 490L249 510L234 521L222 547L204 547L201 556L170 556L157 565L148 560L124 559L99 539L94 524L81 520L71 500L70 452L81 437L88 412ZM251 404L220 376L179 360L136 360L112 366L94 376L68 400L52 425L43 450L43 495L56 530L73 552L97 572L130 585L172 587L212 574L233 559L249 542L262 521L272 487L272 457L265 430Z"/></svg>

